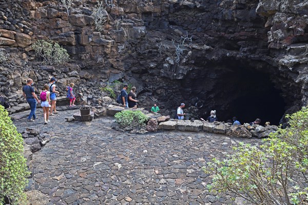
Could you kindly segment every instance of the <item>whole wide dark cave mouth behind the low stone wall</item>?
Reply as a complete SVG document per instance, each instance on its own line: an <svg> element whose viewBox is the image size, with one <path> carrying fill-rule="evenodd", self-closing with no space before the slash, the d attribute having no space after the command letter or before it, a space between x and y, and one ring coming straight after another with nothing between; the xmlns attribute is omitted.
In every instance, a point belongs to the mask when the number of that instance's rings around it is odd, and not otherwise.
<svg viewBox="0 0 308 205"><path fill-rule="evenodd" d="M182 81L183 96L206 118L217 111L219 121L236 116L241 124L261 119L279 125L290 100L282 90L278 69L264 61L225 60L208 63L204 69L192 70ZM295 101L295 100L294 100Z"/></svg>

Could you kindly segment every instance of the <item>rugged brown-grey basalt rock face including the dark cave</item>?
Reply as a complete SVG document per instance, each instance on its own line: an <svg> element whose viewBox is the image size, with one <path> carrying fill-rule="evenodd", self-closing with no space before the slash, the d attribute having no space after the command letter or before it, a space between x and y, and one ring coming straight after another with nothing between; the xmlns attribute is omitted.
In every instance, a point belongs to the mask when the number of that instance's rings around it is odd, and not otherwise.
<svg viewBox="0 0 308 205"><path fill-rule="evenodd" d="M124 80L137 87L142 107L157 103L171 116L168 110L181 102L199 110L195 117L210 109L238 115L230 110L241 107L243 96L252 96L246 103L252 104L258 95L272 96L268 87L284 101L279 118L307 105L305 2L105 1L101 32L91 15L96 5L73 1L68 15L57 1L0 0L1 47L12 59L0 67L0 85L12 104L22 103L26 78L38 89L55 76L61 94L73 82L89 104L99 103L104 94L98 88L106 81ZM37 39L59 42L72 60L36 63L31 44ZM275 107L265 99L259 104Z"/></svg>

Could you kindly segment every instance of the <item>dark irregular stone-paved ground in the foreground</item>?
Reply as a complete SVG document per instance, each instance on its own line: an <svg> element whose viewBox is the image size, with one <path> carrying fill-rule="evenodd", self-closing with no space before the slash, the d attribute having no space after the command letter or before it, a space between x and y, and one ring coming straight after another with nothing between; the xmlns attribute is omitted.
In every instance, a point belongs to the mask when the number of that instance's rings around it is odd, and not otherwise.
<svg viewBox="0 0 308 205"><path fill-rule="evenodd" d="M52 116L48 125L42 117L14 121L20 130L51 133L31 162L33 187L48 195L47 204L241 204L209 193L210 179L201 168L232 152L239 141L259 139L205 132L129 134L112 130L111 117L65 122L73 112Z"/></svg>

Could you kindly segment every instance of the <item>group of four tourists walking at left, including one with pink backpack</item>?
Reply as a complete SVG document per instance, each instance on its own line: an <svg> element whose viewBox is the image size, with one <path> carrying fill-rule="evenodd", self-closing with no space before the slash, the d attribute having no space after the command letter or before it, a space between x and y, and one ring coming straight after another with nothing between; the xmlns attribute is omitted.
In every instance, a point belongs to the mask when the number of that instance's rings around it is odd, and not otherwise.
<svg viewBox="0 0 308 205"><path fill-rule="evenodd" d="M27 85L23 87L23 96L27 100L27 103L30 106L30 114L28 116L28 121L34 121L37 116L35 115L36 111L36 104L41 103L41 107L44 111L44 123L48 124L49 116L53 116L55 114L58 114L56 111L56 94L59 94L58 91L56 91L56 79L52 77L49 80L48 84L45 84L43 86L42 92L40 93L41 102L36 96L34 89L33 89L33 80L29 78L27 80ZM73 87L74 84L70 83L70 85L66 88L67 90L67 97L70 99L69 107L75 106L75 95L73 93Z"/></svg>

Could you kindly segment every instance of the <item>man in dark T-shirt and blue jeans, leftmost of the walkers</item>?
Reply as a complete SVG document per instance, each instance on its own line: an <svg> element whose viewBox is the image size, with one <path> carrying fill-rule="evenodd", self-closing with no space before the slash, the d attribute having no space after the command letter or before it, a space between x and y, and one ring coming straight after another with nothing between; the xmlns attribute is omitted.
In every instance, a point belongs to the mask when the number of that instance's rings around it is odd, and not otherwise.
<svg viewBox="0 0 308 205"><path fill-rule="evenodd" d="M28 121L34 121L36 119L35 110L36 110L36 102L40 103L38 101L38 98L34 92L34 89L32 88L33 80L29 78L27 80L27 85L23 87L23 96L27 100L27 103L30 106L30 114L28 116ZM33 119L32 119L33 117Z"/></svg>

